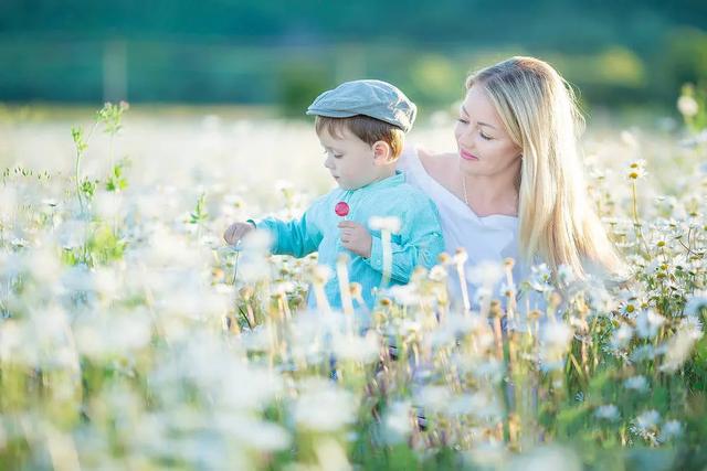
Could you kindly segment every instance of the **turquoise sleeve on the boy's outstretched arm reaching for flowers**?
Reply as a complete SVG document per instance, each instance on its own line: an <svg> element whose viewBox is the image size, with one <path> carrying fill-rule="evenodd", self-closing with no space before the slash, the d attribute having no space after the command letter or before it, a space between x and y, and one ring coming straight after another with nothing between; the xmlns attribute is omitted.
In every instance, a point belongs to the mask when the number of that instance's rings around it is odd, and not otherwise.
<svg viewBox="0 0 707 471"><path fill-rule="evenodd" d="M273 254L299 258L317 251L321 243L323 234L316 221L317 210L316 202L298 220L266 217L254 224L256 228L268 231L273 235Z"/></svg>

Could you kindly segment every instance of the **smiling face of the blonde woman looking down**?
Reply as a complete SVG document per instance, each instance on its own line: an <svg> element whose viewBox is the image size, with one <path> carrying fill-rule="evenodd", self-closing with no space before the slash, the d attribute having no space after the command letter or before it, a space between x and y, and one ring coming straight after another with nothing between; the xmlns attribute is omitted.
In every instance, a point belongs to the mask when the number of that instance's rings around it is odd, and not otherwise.
<svg viewBox="0 0 707 471"><path fill-rule="evenodd" d="M481 86L473 85L466 93L454 136L465 173L500 176L520 171L520 148L508 136Z"/></svg>

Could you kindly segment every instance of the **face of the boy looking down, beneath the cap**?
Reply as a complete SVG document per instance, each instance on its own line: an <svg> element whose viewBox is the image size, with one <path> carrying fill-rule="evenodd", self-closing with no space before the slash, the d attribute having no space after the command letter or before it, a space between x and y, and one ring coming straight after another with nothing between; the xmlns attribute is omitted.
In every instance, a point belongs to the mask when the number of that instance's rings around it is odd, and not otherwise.
<svg viewBox="0 0 707 471"><path fill-rule="evenodd" d="M380 167L376 164L373 147L348 129L342 130L341 137L323 129L319 142L326 153L324 167L342 190L357 190L379 180Z"/></svg>

